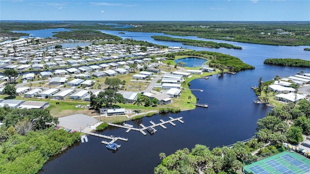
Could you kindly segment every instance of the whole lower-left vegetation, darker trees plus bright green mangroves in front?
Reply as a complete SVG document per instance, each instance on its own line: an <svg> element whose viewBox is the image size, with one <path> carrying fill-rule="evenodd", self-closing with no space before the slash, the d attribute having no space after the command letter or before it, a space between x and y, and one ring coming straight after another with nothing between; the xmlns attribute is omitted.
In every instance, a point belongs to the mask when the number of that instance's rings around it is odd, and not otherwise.
<svg viewBox="0 0 310 174"><path fill-rule="evenodd" d="M35 174L45 162L79 140L79 133L54 130L48 110L0 108L0 173Z"/></svg>

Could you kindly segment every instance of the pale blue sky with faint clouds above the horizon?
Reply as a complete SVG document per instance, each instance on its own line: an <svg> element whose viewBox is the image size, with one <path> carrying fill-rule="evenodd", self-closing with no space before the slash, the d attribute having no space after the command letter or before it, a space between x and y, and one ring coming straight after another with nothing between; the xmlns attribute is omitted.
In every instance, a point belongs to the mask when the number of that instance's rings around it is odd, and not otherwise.
<svg viewBox="0 0 310 174"><path fill-rule="evenodd" d="M310 21L310 0L0 0L0 20Z"/></svg>

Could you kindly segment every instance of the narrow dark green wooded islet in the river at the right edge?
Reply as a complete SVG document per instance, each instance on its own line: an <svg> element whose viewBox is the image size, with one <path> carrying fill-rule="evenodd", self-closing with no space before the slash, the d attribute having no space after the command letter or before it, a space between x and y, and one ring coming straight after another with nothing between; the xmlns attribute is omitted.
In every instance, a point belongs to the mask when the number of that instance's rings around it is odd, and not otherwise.
<svg viewBox="0 0 310 174"><path fill-rule="evenodd" d="M263 61L263 63L281 66L310 67L309 60L303 60L299 58L267 58Z"/></svg>

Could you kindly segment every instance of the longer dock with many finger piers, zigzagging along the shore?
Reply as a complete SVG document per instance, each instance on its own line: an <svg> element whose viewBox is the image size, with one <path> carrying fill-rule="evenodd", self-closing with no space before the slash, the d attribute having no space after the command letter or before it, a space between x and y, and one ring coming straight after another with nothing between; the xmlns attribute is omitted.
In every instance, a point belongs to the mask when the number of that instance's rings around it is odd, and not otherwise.
<svg viewBox="0 0 310 174"><path fill-rule="evenodd" d="M115 126L115 127L119 127L119 128L124 128L127 129L126 133L128 133L129 131L133 130L133 131L140 131L143 135L146 135L147 133L145 132L145 130L147 131L152 131L152 132L156 132L157 130L155 130L155 127L160 126L163 129L167 129L167 127L164 124L170 123L172 126L175 126L175 124L173 123L173 121L179 121L180 123L184 123L184 121L182 120L183 117L178 117L178 118L172 118L169 117L170 120L168 121L164 121L162 119L160 119L160 123L155 124L153 121L150 121L150 123L152 124L151 126L144 126L143 124L140 124L141 128L130 128L124 125L118 125L118 124L113 124L113 123L108 123L109 126Z"/></svg>

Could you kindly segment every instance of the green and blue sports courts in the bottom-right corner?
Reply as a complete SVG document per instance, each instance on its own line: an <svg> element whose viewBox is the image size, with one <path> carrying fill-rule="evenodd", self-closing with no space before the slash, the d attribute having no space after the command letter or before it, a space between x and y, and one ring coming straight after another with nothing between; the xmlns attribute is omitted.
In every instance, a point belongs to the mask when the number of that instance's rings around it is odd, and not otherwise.
<svg viewBox="0 0 310 174"><path fill-rule="evenodd" d="M294 152L253 162L243 167L245 174L310 174L310 160Z"/></svg>

